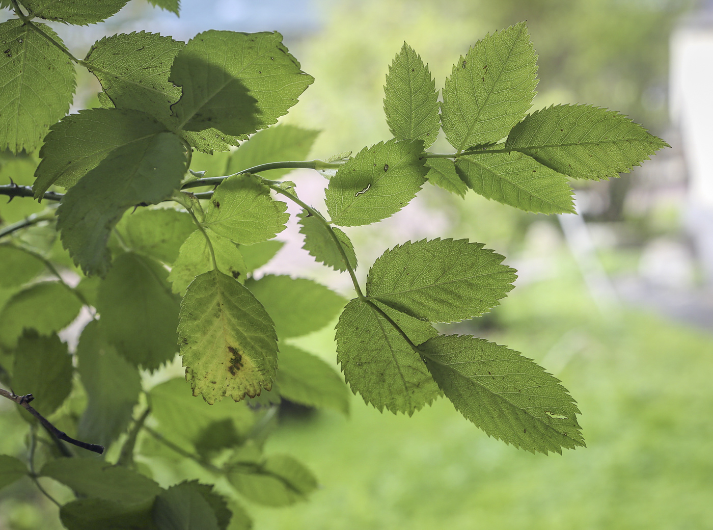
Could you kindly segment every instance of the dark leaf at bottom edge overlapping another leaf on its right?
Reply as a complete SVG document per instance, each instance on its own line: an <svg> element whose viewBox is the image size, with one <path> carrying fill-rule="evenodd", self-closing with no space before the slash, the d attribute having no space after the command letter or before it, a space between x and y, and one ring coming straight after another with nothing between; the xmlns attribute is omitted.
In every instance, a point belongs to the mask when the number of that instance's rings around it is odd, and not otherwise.
<svg viewBox="0 0 713 530"><path fill-rule="evenodd" d="M153 505L159 530L218 530L215 512L193 482L181 482L163 491Z"/></svg>

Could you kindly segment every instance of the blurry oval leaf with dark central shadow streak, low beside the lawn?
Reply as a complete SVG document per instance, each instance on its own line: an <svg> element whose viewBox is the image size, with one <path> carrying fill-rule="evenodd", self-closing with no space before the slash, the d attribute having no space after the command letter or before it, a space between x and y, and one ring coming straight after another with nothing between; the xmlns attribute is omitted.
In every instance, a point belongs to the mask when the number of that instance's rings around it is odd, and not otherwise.
<svg viewBox="0 0 713 530"><path fill-rule="evenodd" d="M257 467L236 467L227 479L247 499L266 506L294 504L317 489L312 472L287 455L267 457Z"/></svg>

